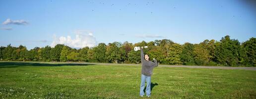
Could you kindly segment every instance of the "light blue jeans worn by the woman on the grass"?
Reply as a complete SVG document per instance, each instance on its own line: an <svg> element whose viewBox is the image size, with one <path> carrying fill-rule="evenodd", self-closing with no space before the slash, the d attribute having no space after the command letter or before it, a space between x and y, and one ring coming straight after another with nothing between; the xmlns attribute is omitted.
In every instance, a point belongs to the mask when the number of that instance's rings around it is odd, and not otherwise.
<svg viewBox="0 0 256 99"><path fill-rule="evenodd" d="M144 86L145 86L145 80L147 80L147 88L146 88L146 95L150 96L151 94L151 90L150 90L150 83L151 83L151 76L145 76L143 74L141 74L141 83L140 83L140 91L139 91L139 95L144 95Z"/></svg>

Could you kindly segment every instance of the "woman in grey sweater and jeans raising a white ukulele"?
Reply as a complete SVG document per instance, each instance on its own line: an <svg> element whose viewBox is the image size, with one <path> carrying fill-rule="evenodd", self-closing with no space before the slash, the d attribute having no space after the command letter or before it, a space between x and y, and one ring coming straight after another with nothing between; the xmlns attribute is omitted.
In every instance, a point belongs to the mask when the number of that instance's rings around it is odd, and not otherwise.
<svg viewBox="0 0 256 99"><path fill-rule="evenodd" d="M143 53L143 47L140 49L140 59L141 59L141 83L140 83L140 92L139 96L143 97L144 95L144 86L145 80L147 81L146 87L146 96L150 97L151 90L150 90L150 83L151 83L151 75L153 74L153 68L158 66L156 59L153 59L153 62L149 60L148 54Z"/></svg>

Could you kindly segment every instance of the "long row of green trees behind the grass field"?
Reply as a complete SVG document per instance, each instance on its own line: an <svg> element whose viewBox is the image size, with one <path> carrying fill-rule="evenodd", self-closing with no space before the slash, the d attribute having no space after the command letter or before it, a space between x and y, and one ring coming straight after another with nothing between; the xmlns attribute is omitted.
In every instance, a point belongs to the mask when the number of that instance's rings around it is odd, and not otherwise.
<svg viewBox="0 0 256 99"><path fill-rule="evenodd" d="M148 46L144 53L156 58L161 64L256 66L256 38L240 43L223 37L220 41L204 40L199 44L183 45L171 40L151 42L120 42L98 44L93 48L73 49L58 44L54 48L46 46L28 50L25 46L0 47L0 60L14 61L86 61L109 63L140 63L140 51L134 47Z"/></svg>

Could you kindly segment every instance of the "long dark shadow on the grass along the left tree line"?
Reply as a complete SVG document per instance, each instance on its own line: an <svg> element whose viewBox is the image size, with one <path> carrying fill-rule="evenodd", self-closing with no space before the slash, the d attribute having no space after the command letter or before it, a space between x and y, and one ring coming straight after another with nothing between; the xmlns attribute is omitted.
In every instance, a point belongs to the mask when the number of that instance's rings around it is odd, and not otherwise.
<svg viewBox="0 0 256 99"><path fill-rule="evenodd" d="M39 62L0 62L0 68L13 68L19 66L87 66L89 63L39 63Z"/></svg>

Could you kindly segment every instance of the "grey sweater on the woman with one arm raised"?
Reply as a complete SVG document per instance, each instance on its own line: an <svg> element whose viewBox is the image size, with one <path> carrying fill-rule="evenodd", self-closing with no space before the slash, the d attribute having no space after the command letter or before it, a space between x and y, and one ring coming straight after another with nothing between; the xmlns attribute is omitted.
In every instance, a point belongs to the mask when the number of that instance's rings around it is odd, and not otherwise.
<svg viewBox="0 0 256 99"><path fill-rule="evenodd" d="M140 59L141 59L141 74L146 76L151 76L153 74L153 68L158 66L158 63L156 60L147 61L144 58L143 49L140 49Z"/></svg>

